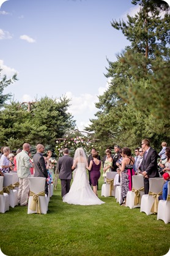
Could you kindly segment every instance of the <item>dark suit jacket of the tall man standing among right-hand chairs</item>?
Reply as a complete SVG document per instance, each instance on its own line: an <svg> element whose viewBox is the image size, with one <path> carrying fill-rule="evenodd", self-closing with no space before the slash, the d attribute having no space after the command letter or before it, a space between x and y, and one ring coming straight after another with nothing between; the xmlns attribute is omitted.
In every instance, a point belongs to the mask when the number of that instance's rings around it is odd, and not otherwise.
<svg viewBox="0 0 170 256"><path fill-rule="evenodd" d="M150 148L147 152L147 156L145 159L145 154L141 163L141 171L146 171L148 173L149 178L159 177L158 173L158 164L157 164L157 151L155 149Z"/></svg>

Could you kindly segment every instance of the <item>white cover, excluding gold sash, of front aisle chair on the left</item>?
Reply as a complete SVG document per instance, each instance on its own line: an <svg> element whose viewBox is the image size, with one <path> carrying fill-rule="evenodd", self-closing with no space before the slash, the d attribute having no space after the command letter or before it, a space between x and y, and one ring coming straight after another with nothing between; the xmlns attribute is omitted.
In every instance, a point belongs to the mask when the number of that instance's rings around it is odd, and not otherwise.
<svg viewBox="0 0 170 256"><path fill-rule="evenodd" d="M46 180L46 178L31 177L31 178L28 178L28 179L29 179L30 191L33 192L35 195L39 194L40 192L45 191L45 180ZM29 195L28 214L38 212L37 205L36 205L35 211L30 209L32 200L33 200L33 196ZM39 201L40 201L40 213L46 214L46 212L48 211L48 197L47 197L47 195L39 196Z"/></svg>

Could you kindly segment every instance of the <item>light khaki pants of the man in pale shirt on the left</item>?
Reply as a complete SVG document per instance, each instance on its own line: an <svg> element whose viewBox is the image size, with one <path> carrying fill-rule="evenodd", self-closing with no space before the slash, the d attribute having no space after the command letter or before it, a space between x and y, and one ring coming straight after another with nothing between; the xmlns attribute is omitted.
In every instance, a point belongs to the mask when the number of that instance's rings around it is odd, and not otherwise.
<svg viewBox="0 0 170 256"><path fill-rule="evenodd" d="M21 206L26 205L26 203L28 202L28 194L29 194L28 178L24 178L24 179L19 178L20 186L18 188L18 203Z"/></svg>

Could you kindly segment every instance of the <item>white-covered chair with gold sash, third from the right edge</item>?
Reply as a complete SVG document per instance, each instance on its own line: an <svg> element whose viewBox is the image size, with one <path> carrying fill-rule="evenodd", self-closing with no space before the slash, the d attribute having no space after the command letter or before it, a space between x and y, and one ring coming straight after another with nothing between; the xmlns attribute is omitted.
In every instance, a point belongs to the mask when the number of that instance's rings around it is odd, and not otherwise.
<svg viewBox="0 0 170 256"><path fill-rule="evenodd" d="M142 175L133 175L132 190L127 192L126 206L130 209L141 207L142 195L144 195L144 177Z"/></svg>

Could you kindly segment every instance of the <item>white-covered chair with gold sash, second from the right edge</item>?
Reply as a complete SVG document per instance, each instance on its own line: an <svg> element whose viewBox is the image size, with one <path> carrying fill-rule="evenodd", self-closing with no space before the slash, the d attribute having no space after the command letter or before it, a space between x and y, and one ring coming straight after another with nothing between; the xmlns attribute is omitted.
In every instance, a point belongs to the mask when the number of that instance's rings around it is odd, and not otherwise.
<svg viewBox="0 0 170 256"><path fill-rule="evenodd" d="M140 211L146 213L146 215L150 215L153 213L157 213L157 209L152 211L153 203L157 203L157 197L162 192L164 184L163 178L150 178L149 179L149 194L142 195L141 199L141 209Z"/></svg>

